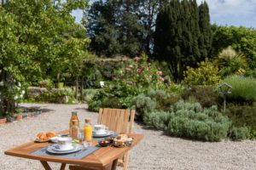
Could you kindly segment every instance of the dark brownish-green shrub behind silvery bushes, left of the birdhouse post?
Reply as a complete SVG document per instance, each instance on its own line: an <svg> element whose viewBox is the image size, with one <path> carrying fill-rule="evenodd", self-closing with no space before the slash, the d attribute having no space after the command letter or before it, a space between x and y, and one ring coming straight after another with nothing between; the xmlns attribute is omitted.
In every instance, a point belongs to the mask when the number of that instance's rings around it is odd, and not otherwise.
<svg viewBox="0 0 256 170"><path fill-rule="evenodd" d="M195 98L202 107L211 107L218 104L218 94L214 92L211 86L194 86L185 90L182 94L182 98L186 101Z"/></svg>

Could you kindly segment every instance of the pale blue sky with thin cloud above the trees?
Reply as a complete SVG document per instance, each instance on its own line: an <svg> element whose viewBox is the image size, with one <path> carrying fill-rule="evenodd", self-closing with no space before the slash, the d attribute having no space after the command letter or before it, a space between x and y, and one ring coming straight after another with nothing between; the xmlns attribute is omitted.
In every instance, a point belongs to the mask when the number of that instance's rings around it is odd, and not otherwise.
<svg viewBox="0 0 256 170"><path fill-rule="evenodd" d="M204 0L197 0L198 4ZM211 23L218 26L246 26L256 28L256 0L206 0ZM82 19L81 10L73 11L76 21Z"/></svg>

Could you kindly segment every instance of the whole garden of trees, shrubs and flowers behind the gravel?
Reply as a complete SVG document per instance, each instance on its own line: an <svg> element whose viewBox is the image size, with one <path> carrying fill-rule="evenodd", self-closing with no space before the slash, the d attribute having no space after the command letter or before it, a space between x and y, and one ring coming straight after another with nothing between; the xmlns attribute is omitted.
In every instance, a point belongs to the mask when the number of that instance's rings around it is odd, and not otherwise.
<svg viewBox="0 0 256 170"><path fill-rule="evenodd" d="M172 137L256 139L256 30L212 25L207 3L153 2L2 6L0 122L20 103L87 103L133 109Z"/></svg>

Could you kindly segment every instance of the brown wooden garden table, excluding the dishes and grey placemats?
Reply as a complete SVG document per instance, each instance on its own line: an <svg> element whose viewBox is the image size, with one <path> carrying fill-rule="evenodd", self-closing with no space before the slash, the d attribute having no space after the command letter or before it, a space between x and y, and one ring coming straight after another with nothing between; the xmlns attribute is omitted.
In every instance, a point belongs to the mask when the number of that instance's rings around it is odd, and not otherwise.
<svg viewBox="0 0 256 170"><path fill-rule="evenodd" d="M64 131L63 131L64 132ZM35 143L28 142L21 144L13 149L6 150L4 154L9 156L23 157L32 160L38 160L44 166L44 169L51 170L48 161L61 163L61 170L65 169L66 164L81 165L86 167L99 167L102 170L116 169L118 158L123 156L127 151L131 150L133 146L137 145L142 139L143 134L129 134L134 138L131 147L115 148L115 147L102 147L99 150L91 153L89 156L85 156L82 159L67 159L54 156L34 156L31 153L36 150L40 150L51 143ZM97 144L95 141L94 145Z"/></svg>

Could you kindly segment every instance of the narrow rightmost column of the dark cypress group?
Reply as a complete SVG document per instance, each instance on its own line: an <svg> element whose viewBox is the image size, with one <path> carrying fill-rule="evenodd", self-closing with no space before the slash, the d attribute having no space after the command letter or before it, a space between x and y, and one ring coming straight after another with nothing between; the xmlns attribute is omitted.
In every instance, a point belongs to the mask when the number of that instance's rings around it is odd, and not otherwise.
<svg viewBox="0 0 256 170"><path fill-rule="evenodd" d="M199 6L199 27L201 31L199 39L201 56L209 57L212 48L212 31L209 8L206 2Z"/></svg>

